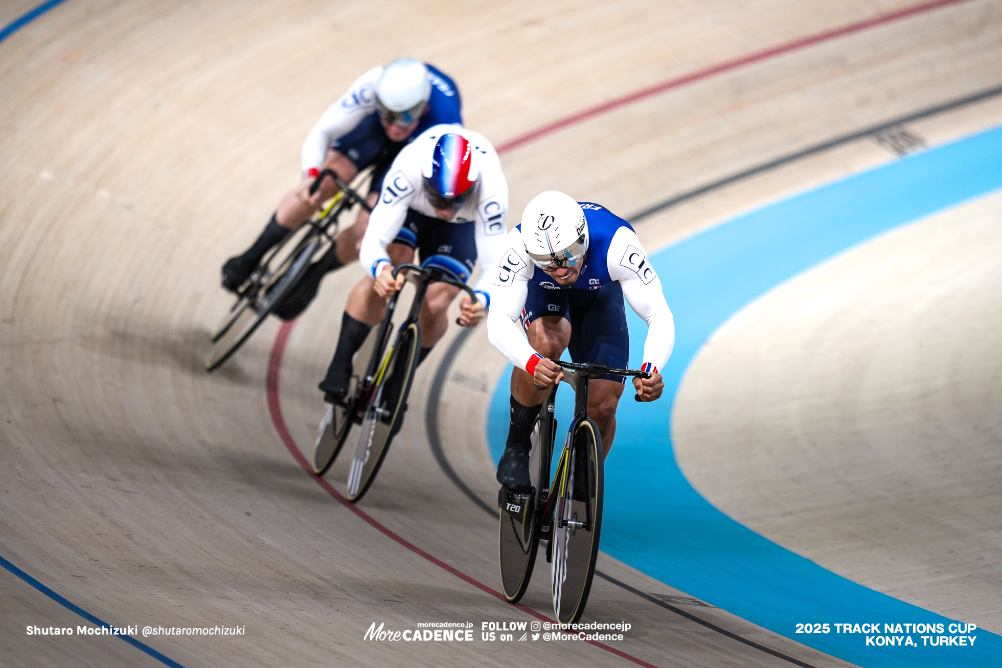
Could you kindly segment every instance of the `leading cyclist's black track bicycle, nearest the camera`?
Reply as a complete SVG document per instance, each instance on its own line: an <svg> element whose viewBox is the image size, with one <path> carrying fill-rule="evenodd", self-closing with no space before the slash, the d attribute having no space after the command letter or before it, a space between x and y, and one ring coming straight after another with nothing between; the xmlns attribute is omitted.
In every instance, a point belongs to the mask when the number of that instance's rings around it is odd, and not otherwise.
<svg viewBox="0 0 1002 668"><path fill-rule="evenodd" d="M498 562L501 590L515 603L529 586L539 541L545 540L546 561L552 564L553 611L559 623L573 624L588 600L602 526L602 439L588 417L588 381L603 375L650 378L650 374L590 363L556 364L574 388L574 417L556 473L548 482L557 429L553 412L559 384L554 385L532 430L529 492L513 493L503 487L498 492Z"/></svg>

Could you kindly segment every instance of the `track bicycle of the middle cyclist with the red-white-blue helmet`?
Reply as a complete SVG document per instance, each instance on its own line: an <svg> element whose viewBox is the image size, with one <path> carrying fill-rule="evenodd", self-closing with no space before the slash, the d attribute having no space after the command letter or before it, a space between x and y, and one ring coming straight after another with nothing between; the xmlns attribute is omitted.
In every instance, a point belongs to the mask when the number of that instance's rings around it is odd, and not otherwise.
<svg viewBox="0 0 1002 668"><path fill-rule="evenodd" d="M436 281L449 283L466 291L474 301L477 298L466 283L444 270L438 257L432 255L421 266L403 263L394 268L394 278L406 269L408 281L416 286L411 310L397 330L393 346L387 349L393 330L393 313L402 290L394 292L387 302L383 320L372 328L355 355L344 404L328 404L321 421L313 461L314 472L319 476L327 473L334 464L348 440L352 425L361 426L358 446L348 475L346 496L353 503L362 499L376 479L390 449L390 442L403 422L407 397L418 368L421 347L418 314L424 304L428 285Z"/></svg>

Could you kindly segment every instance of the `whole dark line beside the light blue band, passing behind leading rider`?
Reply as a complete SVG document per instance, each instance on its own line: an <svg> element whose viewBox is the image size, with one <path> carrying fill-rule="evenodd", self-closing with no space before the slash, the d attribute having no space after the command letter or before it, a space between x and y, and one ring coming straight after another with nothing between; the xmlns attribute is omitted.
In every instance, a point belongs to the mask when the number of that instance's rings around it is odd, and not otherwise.
<svg viewBox="0 0 1002 668"><path fill-rule="evenodd" d="M631 223L633 223L633 222L639 222L640 220L643 220L644 218L647 218L647 217L649 217L649 216L651 216L651 215L653 215L655 213L663 211L666 208L674 206L675 204L679 204L679 203L681 203L683 201L686 201L688 199L693 199L695 197L698 197L701 194L705 194L705 193L710 192L712 190L716 190L716 189L721 188L721 187L723 187L725 185L729 185L730 183L734 183L735 181L739 181L739 180L741 180L743 178L747 178L749 176L754 176L756 174L760 174L760 173L762 173L764 171L768 171L770 169L773 169L775 167L779 167L779 166L784 165L784 164L789 164L791 162L795 162L795 161L797 161L797 160L799 160L801 158L808 157L809 155L814 155L814 154L817 154L817 153L821 153L823 151L828 150L829 148L834 148L834 147L839 146L841 144L846 144L846 143L849 143L851 141L856 141L858 139L863 139L863 138L865 138L865 137L867 137L869 135L872 135L872 134L874 134L876 132L880 132L881 130L886 130L886 129L894 127L896 125L902 125L904 123L910 123L912 121L916 121L916 120L919 120L921 118L927 118L929 116L934 116L936 114L943 113L944 111L950 111L952 109L956 109L956 108L959 108L959 107L962 107L962 106L966 106L968 104L973 104L975 102L980 102L981 100L985 100L985 99L988 99L990 97L995 97L996 95L999 95L999 94L1002 94L1002 86L996 86L994 88L989 88L987 90L983 90L981 92L974 93L974 94L968 95L966 97L961 97L959 99L952 100L952 101L946 102L944 104L939 104L939 105L936 105L934 107L929 107L929 108L923 109L921 111L917 111L915 113L908 114L906 116L901 116L899 118L896 118L894 120L881 123L879 125L874 125L872 127L864 129L864 130L859 130L857 132L853 132L853 133L850 133L850 134L844 134L842 136L836 137L834 139L830 139L830 140L825 141L823 143L815 144L814 146L809 146L808 148L805 148L803 150L796 151L796 152L790 153L788 155L784 155L783 157L779 157L779 158L777 158L775 160L770 160L769 162L764 162L764 163L762 163L760 165L757 165L755 167L752 167L749 169L745 169L743 171L739 171L739 172L737 172L735 174L731 174L730 176L725 176L725 177L723 177L721 179L712 181L712 182L707 183L705 185L701 185L701 186L699 186L697 188L693 188L693 189L687 190L687 191L685 191L685 192L683 192L681 194L675 195L674 197L671 197L670 199L666 199L666 200L664 200L663 202L661 202L659 204L655 204L654 206L651 206L651 207L649 207L647 209L644 209L644 210L640 211L639 213L633 214L629 218L629 221ZM455 485L459 489L460 492L462 492L463 494L465 494L466 497L470 501L472 501L474 503L474 505L476 505L478 508L480 508L481 510L483 510L485 513L493 516L493 515L495 515L497 513L497 510L491 508L491 506L488 505L487 503L485 503L483 499L481 499L480 497L478 497L473 492L473 490L471 490L469 487L467 487L466 483L464 483L463 480L456 474L455 470L452 468L452 465L449 464L449 460L448 460L448 458L446 458L445 452L442 450L442 440L439 437L438 410L439 410L439 404L440 404L440 402L442 400L442 389L445 387L446 376L449 374L449 369L452 367L453 361L456 359L456 356L459 354L459 350L463 347L463 345L466 343L466 340L469 339L469 337L470 337L470 335L472 332L473 332L473 329L463 328L462 330L460 330L459 335L456 336L456 338L453 340L452 344L449 346L449 349L446 351L445 356L442 359L442 364L440 364L439 368L436 370L436 372L435 372L435 379L432 381L431 391L429 392L429 396L428 396L428 409L427 409L427 411L425 413L425 426L426 426L427 432L428 432L428 445L429 445L429 447L432 450L432 454L435 456L435 461L438 462L439 467L442 469L442 471L445 473L445 475L449 478L450 481L452 481L453 485ZM605 580L606 582L609 582L609 583L611 583L613 585L616 585L617 587L620 587L621 589L623 589L623 590L625 590L627 592L630 592L631 594L635 594L636 596L639 596L640 598L644 599L645 601L653 603L656 606L660 606L661 608L664 608L665 610L670 610L671 612L675 613L676 615L684 617L685 619L687 619L689 621L692 621L692 622L695 622L696 624L700 624L700 625L706 627L707 629L710 629L712 631L716 631L717 633L719 633L721 635L724 635L724 636L727 636L728 638L731 638L733 640L736 640L737 642L743 643L743 644L747 645L748 647L754 647L754 648L756 648L758 650L766 652L767 654L771 654L771 655L773 655L775 657L783 659L784 661L789 661L790 663L793 663L794 665L802 666L802 668L815 668L811 664L804 663L803 661L799 661L799 660L797 660L797 659L795 659L793 657L787 656L786 654L782 654L780 652L777 652L776 650L772 650L772 649L770 649L768 647L765 647L763 645L759 645L757 643L754 643L750 640L747 640L746 638L742 638L742 637L740 637L740 636L738 636L738 635L736 635L734 633L731 633L730 631L727 631L726 629L722 629L722 628L716 626L715 624L711 624L710 622L707 622L707 621L705 621L703 619L700 619L699 617L696 617L695 615L693 615L691 613L685 612L684 610L676 608L675 606L669 605L669 604L667 604L667 603L665 603L663 601L659 601L658 599L654 598L653 596L650 596L648 594L645 594L644 592L641 592L638 589L630 587L626 583L620 582L619 580L616 580L615 578L613 578L613 577L611 577L609 575L606 575L605 573L602 573L601 571L599 571L597 569L595 570L595 575L597 575L601 579Z"/></svg>

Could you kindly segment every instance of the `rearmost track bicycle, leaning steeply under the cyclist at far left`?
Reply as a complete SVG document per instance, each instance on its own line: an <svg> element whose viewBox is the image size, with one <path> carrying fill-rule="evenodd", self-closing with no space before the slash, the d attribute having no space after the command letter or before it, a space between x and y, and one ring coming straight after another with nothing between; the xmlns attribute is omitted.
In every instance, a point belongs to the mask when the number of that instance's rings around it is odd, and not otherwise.
<svg viewBox="0 0 1002 668"><path fill-rule="evenodd" d="M345 211L355 204L360 204L367 211L372 210L366 198L332 169L325 169L317 175L310 186L310 194L317 192L325 178L334 179L341 191L312 220L300 225L295 233L289 234L267 253L240 286L236 300L212 333L213 346L205 360L206 371L217 369L232 357L270 314L282 308L283 300L294 293L315 260L323 261L327 257L326 253L338 235L339 218ZM278 314L282 316L281 312Z"/></svg>

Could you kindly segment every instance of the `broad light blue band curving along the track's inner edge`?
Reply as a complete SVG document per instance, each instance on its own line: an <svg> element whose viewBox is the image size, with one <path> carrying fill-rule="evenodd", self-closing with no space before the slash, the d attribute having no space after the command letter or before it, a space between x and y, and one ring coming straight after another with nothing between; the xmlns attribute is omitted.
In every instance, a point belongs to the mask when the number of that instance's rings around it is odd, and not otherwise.
<svg viewBox="0 0 1002 668"><path fill-rule="evenodd" d="M949 633L913 633L917 648L868 647L862 635L834 631L795 634L795 625L805 622L947 625L978 620L949 620L862 587L734 522L685 480L669 431L686 368L702 343L739 308L876 234L1000 187L1002 128L742 215L652 255L675 316L675 349L663 370L664 397L654 405L619 405L616 443L605 470L602 550L672 587L860 666L1002 664L1002 638L982 629L972 634L977 637L973 647L923 647L918 638ZM636 367L646 326L628 308L627 313L630 361ZM571 412L570 399L563 390L558 412L564 416ZM488 421L495 461L507 431L505 373Z"/></svg>

